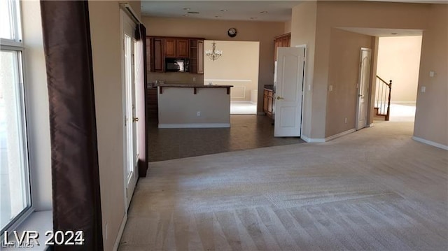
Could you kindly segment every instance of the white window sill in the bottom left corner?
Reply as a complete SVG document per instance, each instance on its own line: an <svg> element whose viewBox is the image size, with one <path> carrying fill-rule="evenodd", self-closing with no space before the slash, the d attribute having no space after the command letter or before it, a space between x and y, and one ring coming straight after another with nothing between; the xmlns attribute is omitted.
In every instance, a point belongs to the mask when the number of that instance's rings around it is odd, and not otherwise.
<svg viewBox="0 0 448 251"><path fill-rule="evenodd" d="M49 238L48 236L45 236L46 231L50 231L53 229L53 220L52 220L52 211L39 211L39 212L33 212L27 219L20 224L20 226L16 229L18 232L18 236L22 236L23 231L36 231L39 234L38 242L40 245L36 245L34 242L34 245L27 246L26 250L33 250L33 251L40 251L40 250L48 250L48 246L45 246L45 241ZM4 240L1 240L4 241ZM9 235L8 242L15 242L15 236L14 234ZM4 246L4 243L1 243L1 250L23 250L24 247L11 247L6 248Z"/></svg>

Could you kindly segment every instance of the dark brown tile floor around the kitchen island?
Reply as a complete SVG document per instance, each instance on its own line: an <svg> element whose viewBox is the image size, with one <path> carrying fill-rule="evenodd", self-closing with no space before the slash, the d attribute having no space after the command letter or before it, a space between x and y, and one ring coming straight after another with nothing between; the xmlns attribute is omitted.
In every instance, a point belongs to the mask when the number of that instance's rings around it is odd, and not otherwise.
<svg viewBox="0 0 448 251"><path fill-rule="evenodd" d="M230 115L230 124L230 128L158 129L150 117L149 161L304 143L300 138L274 138L272 120L264 115Z"/></svg>

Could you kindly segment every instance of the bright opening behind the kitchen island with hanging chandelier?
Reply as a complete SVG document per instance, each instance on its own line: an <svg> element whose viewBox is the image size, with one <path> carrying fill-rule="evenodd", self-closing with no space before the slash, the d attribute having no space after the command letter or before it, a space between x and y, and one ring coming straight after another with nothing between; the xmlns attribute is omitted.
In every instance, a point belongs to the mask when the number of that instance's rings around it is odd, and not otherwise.
<svg viewBox="0 0 448 251"><path fill-rule="evenodd" d="M204 55L204 85L233 85L230 114L257 114L260 42L204 41L204 50L222 51L221 57Z"/></svg>

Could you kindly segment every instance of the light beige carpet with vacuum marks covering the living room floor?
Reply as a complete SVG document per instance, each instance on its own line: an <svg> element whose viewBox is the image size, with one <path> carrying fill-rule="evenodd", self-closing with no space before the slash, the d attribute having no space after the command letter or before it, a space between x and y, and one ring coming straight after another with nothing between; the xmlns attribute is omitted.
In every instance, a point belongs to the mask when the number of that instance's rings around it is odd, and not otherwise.
<svg viewBox="0 0 448 251"><path fill-rule="evenodd" d="M119 250L447 250L448 152L412 127L151 163Z"/></svg>

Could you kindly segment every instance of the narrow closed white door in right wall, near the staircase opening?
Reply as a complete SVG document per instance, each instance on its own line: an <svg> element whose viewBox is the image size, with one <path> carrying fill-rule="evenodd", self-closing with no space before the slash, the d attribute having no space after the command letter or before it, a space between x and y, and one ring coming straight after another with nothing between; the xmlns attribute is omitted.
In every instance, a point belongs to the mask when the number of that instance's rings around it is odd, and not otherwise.
<svg viewBox="0 0 448 251"><path fill-rule="evenodd" d="M367 110L370 85L370 57L372 50L361 48L358 84L358 108L356 111L356 130L367 126Z"/></svg>

